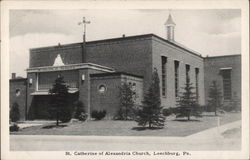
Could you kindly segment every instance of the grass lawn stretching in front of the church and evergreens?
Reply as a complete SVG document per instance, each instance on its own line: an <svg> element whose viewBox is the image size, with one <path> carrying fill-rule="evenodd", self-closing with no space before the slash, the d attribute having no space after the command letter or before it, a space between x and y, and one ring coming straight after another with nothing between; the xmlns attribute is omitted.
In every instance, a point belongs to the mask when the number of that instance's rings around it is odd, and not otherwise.
<svg viewBox="0 0 250 160"><path fill-rule="evenodd" d="M241 119L241 113L220 115L221 125ZM54 125L52 123L51 125ZM216 127L217 117L206 115L191 121L167 117L163 129L142 129L134 121L88 121L64 123L60 127L33 126L11 134L18 135L94 135L94 136L188 136L202 130Z"/></svg>

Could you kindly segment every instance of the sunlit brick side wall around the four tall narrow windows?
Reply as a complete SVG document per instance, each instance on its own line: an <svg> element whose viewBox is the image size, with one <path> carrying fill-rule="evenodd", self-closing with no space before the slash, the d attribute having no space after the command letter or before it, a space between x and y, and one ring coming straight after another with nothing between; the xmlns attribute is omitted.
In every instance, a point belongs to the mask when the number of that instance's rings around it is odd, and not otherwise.
<svg viewBox="0 0 250 160"><path fill-rule="evenodd" d="M153 66L158 70L160 83L162 86L162 68L161 56L167 57L166 64L166 96L162 96L162 105L164 107L175 107L175 74L174 74L174 61L179 61L179 91L183 91L182 87L186 83L186 69L185 65L190 65L190 82L195 87L195 68L199 68L199 104L204 104L204 66L203 58L173 45L159 38L153 38ZM193 90L195 92L195 89Z"/></svg>

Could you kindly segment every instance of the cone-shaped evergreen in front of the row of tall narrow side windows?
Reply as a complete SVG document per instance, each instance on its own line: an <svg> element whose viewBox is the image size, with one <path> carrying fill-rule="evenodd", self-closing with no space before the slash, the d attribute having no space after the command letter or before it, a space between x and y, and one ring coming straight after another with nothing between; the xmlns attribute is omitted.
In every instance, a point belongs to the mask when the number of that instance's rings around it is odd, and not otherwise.
<svg viewBox="0 0 250 160"><path fill-rule="evenodd" d="M191 116L201 117L201 110L197 103L197 97L192 91L194 87L192 87L189 78L183 89L184 92L181 93L181 96L179 96L179 100L177 101L178 107L176 108L175 113L176 118L187 117L187 119L190 120Z"/></svg>

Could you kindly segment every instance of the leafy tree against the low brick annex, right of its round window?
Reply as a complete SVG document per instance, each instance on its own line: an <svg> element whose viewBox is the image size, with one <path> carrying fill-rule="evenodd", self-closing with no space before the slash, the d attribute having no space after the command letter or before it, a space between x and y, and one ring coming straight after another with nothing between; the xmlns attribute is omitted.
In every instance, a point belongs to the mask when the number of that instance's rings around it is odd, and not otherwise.
<svg viewBox="0 0 250 160"><path fill-rule="evenodd" d="M132 86L123 83L120 87L120 109L117 114L117 119L128 120L134 117L135 91Z"/></svg>

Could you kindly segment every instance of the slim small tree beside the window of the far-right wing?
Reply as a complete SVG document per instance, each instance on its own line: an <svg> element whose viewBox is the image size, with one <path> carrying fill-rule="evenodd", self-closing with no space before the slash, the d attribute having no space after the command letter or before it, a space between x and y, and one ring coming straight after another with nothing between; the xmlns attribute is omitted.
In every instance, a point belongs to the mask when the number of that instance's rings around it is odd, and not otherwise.
<svg viewBox="0 0 250 160"><path fill-rule="evenodd" d="M212 85L209 88L209 107L212 107L214 111L214 115L217 116L217 110L221 107L221 92L216 83L216 81L212 82Z"/></svg>

